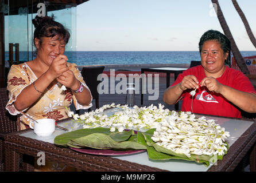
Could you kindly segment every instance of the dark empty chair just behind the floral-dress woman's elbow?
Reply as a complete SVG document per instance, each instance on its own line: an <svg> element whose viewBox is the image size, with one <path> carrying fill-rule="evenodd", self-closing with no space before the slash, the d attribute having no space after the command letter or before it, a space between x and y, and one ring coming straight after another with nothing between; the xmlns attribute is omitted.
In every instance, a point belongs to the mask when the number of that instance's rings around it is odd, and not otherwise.
<svg viewBox="0 0 256 183"><path fill-rule="evenodd" d="M96 109L99 108L99 93L97 86L101 81L97 81L98 75L103 73L105 66L92 66L92 67L83 67L81 74L86 82L86 85L91 90L92 99L95 100ZM90 112L91 109L88 109ZM76 110L76 113L79 114L79 110Z"/></svg>

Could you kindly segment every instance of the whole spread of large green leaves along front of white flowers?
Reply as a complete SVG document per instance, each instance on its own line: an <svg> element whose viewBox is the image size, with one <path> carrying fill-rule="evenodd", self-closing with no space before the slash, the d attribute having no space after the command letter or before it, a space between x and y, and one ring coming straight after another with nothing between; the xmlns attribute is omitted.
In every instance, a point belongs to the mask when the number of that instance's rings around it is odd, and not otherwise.
<svg viewBox="0 0 256 183"><path fill-rule="evenodd" d="M217 160L222 160L223 156L206 156L175 153L172 150L159 146L151 137L154 130L134 133L133 130L123 132L110 132L109 128L80 129L73 132L61 134L55 138L55 144L70 146L73 148L95 148L95 149L147 149L151 160L188 160L209 165ZM227 146L228 149L228 146ZM225 152L226 154L227 152Z"/></svg>

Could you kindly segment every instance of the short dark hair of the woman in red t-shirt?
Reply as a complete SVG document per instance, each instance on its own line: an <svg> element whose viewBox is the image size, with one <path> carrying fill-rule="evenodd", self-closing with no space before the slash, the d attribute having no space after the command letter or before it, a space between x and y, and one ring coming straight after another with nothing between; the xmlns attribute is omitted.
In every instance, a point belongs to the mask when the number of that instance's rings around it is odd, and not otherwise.
<svg viewBox="0 0 256 183"><path fill-rule="evenodd" d="M226 37L226 35L220 33L217 30L208 30L206 31L200 38L199 41L199 51L201 53L203 44L205 41L215 40L220 43L220 47L222 47L222 50L224 53L228 53L228 57L225 61L225 64L230 66L230 51L231 51L231 43L230 40Z"/></svg>

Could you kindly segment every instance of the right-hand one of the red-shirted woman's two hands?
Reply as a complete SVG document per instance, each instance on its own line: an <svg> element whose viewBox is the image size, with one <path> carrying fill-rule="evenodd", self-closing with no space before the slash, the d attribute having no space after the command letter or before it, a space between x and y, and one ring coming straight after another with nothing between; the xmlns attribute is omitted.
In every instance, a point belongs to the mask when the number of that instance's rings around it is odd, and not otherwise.
<svg viewBox="0 0 256 183"><path fill-rule="evenodd" d="M209 91L220 93L222 91L222 83L219 83L214 77L205 77L200 82L200 86L206 86Z"/></svg>

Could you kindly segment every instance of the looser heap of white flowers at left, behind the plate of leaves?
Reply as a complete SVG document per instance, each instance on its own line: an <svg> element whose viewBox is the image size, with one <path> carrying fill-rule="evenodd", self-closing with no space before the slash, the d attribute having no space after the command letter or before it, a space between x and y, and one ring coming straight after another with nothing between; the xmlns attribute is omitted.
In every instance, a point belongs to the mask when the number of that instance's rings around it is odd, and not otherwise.
<svg viewBox="0 0 256 183"><path fill-rule="evenodd" d="M120 108L111 116L107 116L103 113L104 110L109 108ZM127 105L104 105L99 109L92 112L86 112L82 115L74 114L73 112L68 112L69 117L73 117L76 122L81 122L84 124L83 128L97 128L104 127L110 128L111 132L118 129L119 132L123 132L124 129L151 129L156 128L162 118L169 116L170 110L163 109L164 105L159 104L157 106L141 107L134 106L129 108Z"/></svg>

